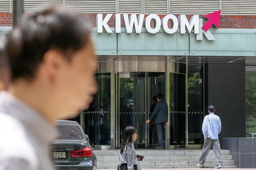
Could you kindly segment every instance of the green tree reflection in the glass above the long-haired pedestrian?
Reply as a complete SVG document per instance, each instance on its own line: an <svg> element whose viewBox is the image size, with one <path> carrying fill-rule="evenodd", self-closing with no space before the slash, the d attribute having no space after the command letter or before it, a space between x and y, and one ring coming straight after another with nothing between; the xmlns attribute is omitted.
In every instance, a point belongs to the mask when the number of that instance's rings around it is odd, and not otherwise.
<svg viewBox="0 0 256 170"><path fill-rule="evenodd" d="M120 79L120 97L124 98L124 105L133 105L133 78Z"/></svg>

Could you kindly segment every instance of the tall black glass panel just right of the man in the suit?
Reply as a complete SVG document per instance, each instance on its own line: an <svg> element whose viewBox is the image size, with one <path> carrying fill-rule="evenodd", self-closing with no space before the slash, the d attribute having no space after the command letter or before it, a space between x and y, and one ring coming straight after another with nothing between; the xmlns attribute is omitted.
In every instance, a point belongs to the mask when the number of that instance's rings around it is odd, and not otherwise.
<svg viewBox="0 0 256 170"><path fill-rule="evenodd" d="M170 144L186 144L186 75L170 73Z"/></svg>

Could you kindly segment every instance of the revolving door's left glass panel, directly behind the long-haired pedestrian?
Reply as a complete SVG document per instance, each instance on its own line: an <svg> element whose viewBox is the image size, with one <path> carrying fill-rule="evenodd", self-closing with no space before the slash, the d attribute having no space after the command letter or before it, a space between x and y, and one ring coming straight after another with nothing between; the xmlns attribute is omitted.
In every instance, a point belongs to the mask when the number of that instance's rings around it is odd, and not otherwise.
<svg viewBox="0 0 256 170"><path fill-rule="evenodd" d="M119 78L119 141L123 130L131 125L138 129L135 147L145 147L145 73L120 74Z"/></svg>

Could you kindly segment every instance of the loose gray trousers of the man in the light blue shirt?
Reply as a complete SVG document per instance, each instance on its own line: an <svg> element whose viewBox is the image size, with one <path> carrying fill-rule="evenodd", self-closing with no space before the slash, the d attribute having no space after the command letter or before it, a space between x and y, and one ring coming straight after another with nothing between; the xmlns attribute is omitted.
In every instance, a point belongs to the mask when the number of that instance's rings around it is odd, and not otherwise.
<svg viewBox="0 0 256 170"><path fill-rule="evenodd" d="M201 155L201 158L199 160L200 165L204 165L204 161L205 161L211 147L213 147L213 151L214 151L214 155L215 155L215 158L216 158L217 166L221 165L221 163L220 163L221 155L220 155L219 139L211 139L211 138L204 139L202 155Z"/></svg>

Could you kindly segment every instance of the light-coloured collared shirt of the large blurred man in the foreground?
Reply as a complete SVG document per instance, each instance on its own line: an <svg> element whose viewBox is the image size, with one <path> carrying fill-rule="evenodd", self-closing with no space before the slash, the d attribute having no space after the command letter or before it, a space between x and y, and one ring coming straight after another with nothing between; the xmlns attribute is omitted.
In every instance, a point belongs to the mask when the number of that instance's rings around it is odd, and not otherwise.
<svg viewBox="0 0 256 170"><path fill-rule="evenodd" d="M0 92L0 170L54 170L56 129L34 109Z"/></svg>

